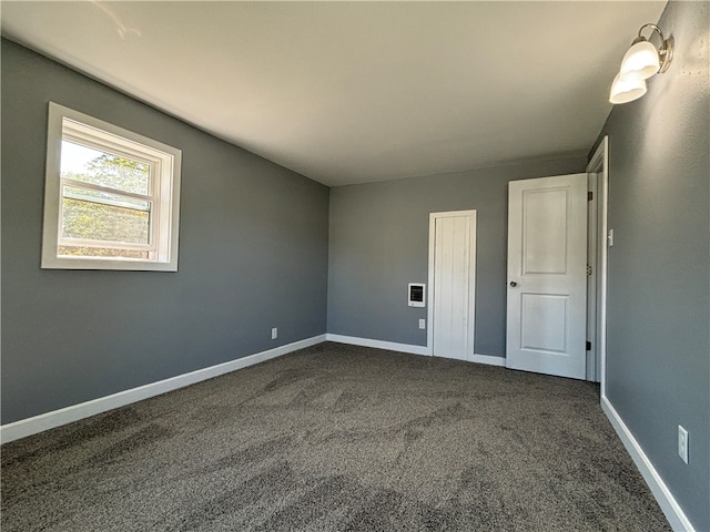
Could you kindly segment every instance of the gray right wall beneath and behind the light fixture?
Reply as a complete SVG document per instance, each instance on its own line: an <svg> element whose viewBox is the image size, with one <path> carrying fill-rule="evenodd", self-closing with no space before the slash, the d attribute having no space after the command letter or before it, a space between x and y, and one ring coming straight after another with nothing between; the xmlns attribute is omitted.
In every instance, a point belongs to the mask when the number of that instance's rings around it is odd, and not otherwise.
<svg viewBox="0 0 710 532"><path fill-rule="evenodd" d="M607 396L696 530L710 530L708 2L671 2L670 70L613 108ZM690 431L690 464L677 427Z"/></svg>

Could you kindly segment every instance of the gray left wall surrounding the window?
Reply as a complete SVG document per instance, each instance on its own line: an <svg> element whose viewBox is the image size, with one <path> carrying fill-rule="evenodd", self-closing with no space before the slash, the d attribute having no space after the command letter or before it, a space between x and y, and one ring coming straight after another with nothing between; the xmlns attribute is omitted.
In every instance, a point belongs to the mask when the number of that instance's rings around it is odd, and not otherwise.
<svg viewBox="0 0 710 532"><path fill-rule="evenodd" d="M40 269L50 100L182 150L178 273ZM325 332L327 187L7 40L1 170L3 423Z"/></svg>

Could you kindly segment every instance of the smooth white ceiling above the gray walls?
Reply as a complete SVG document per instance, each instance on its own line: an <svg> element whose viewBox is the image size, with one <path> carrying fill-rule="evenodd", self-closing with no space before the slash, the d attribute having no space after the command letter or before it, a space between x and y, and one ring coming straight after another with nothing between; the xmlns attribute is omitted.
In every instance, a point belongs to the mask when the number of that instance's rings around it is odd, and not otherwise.
<svg viewBox="0 0 710 532"><path fill-rule="evenodd" d="M342 185L586 154L665 4L2 1L1 17L12 40Z"/></svg>

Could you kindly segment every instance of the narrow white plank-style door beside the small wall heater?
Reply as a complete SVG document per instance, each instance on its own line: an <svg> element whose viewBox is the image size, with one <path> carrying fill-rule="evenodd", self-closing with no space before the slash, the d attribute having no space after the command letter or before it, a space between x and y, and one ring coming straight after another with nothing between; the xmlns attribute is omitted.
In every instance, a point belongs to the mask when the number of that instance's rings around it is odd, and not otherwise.
<svg viewBox="0 0 710 532"><path fill-rule="evenodd" d="M429 215L429 346L436 357L474 354L476 211Z"/></svg>

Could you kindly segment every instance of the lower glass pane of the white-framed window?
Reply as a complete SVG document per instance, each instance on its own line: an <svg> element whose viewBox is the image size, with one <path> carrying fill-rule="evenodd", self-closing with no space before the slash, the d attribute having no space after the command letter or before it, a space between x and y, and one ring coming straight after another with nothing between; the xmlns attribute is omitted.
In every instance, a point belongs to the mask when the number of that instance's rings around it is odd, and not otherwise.
<svg viewBox="0 0 710 532"><path fill-rule="evenodd" d="M150 244L151 202L64 186L61 236Z"/></svg>

